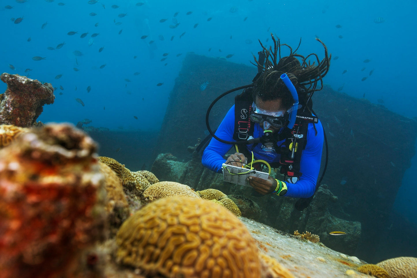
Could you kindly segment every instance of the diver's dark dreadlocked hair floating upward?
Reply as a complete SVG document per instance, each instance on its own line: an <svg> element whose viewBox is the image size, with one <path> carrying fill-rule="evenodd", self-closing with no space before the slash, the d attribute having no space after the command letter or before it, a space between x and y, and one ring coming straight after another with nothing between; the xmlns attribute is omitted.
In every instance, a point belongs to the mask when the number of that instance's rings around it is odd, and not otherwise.
<svg viewBox="0 0 417 278"><path fill-rule="evenodd" d="M272 46L269 49L264 47L259 40L262 52L266 58L265 63L261 64L256 60L255 56L256 64L251 62L263 70L254 83L253 98L259 97L263 101L281 99L282 106L289 109L294 103L294 99L280 78L283 73L286 73L297 90L299 104L307 107L310 111L309 107L312 106L311 96L315 91L320 91L323 88L322 78L329 71L332 55L328 54L326 45L318 38L316 40L324 47L324 58L321 61L315 53L311 53L306 57L296 53L301 45L301 39L297 48L293 51L291 46L285 43L281 44L279 38L275 39L272 33L271 38L274 42L274 49L272 49ZM289 56L281 57L281 46L289 48ZM310 57L314 58L312 63L309 60ZM320 86L317 88L319 82Z"/></svg>

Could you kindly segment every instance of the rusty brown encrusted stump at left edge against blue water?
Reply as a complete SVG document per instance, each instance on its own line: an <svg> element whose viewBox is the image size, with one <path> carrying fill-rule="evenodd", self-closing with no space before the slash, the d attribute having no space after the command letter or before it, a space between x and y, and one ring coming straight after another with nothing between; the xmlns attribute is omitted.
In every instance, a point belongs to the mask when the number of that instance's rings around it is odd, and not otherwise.
<svg viewBox="0 0 417 278"><path fill-rule="evenodd" d="M0 95L0 124L32 126L43 106L55 100L50 83L8 73L3 73L0 79L7 83L6 91Z"/></svg>

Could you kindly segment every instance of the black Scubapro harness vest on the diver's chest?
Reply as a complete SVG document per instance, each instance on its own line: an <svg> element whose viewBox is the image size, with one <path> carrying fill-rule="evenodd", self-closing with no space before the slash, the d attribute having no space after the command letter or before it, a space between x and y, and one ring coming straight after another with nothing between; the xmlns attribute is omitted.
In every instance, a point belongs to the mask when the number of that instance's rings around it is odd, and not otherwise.
<svg viewBox="0 0 417 278"><path fill-rule="evenodd" d="M253 99L250 92L245 89L242 94L235 97L235 123L233 139L241 142L253 138L254 135L254 123L249 119L249 114L252 112ZM270 163L272 168L278 168L281 166L281 174L284 174L286 181L295 183L301 177L300 162L301 153L305 149L307 140L308 124L317 124L319 119L313 116L309 112L302 112L302 108L298 109L296 121L293 129L283 128L281 133L273 134L273 137L267 140L266 144L273 144L275 152L281 155L280 161ZM285 142L279 147L277 142L281 142L285 139ZM258 143L259 144L259 143ZM264 143L265 144L265 143ZM252 149L256 144L252 146ZM302 146L300 149L299 146ZM243 153L246 157L251 157L246 144L239 144L237 147L239 152Z"/></svg>

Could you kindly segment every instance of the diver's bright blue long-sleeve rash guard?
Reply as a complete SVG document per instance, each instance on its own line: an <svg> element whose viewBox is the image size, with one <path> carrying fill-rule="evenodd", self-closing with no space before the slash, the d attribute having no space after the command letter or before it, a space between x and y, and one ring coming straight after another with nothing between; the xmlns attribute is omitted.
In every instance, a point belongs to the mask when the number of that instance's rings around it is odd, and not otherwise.
<svg viewBox="0 0 417 278"><path fill-rule="evenodd" d="M317 177L319 176L320 162L322 159L322 150L323 150L323 126L319 121L316 124L316 131L312 123L309 123L307 129L307 144L306 148L302 151L301 162L300 162L300 172L302 176L295 184L287 182L288 191L286 197L293 198L308 198L314 194L316 190ZM223 121L221 122L219 128L216 131L216 136L224 139L226 141L233 141L234 133L234 106L227 112ZM254 138L259 138L264 134L264 130L259 126L259 124L254 125ZM285 142L285 140L277 143L278 147ZM251 152L253 144L246 145L249 153ZM281 157L280 154L277 154L273 150L268 150L263 148L262 144L257 144L254 149L254 156L256 159L263 159L266 162L279 162ZM230 144L225 144L217 141L216 139L211 139L210 144L206 147L203 152L202 163L208 169L211 169L215 172L221 172L222 164L225 162L223 158L224 154L229 151L231 148ZM251 157L248 157L248 162L250 162Z"/></svg>

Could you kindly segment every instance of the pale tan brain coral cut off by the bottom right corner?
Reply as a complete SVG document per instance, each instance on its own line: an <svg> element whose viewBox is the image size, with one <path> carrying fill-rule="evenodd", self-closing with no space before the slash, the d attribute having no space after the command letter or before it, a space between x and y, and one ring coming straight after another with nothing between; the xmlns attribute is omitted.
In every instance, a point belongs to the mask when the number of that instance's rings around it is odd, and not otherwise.
<svg viewBox="0 0 417 278"><path fill-rule="evenodd" d="M417 278L417 258L398 257L377 263L391 278Z"/></svg>

